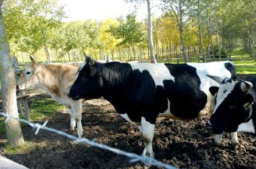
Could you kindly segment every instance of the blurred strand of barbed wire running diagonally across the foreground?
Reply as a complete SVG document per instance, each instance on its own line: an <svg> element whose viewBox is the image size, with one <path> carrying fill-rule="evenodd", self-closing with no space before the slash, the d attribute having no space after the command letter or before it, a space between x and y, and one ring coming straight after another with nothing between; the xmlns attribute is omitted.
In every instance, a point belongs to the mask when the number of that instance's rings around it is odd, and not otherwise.
<svg viewBox="0 0 256 169"><path fill-rule="evenodd" d="M149 156L146 155L146 149L143 150L142 155L138 155L138 154L135 154L133 152L126 152L126 151L123 151L123 150L115 149L113 147L109 147L107 145L103 145L101 143L97 143L97 142L95 142L95 139L90 141L89 139L84 138L84 137L83 138L78 138L78 137L75 137L74 135L68 134L64 131L60 131L60 130L56 130L56 129L53 129L53 128L50 128L50 127L46 127L46 124L47 124L48 121L46 121L45 123L43 123L43 125L41 125L39 123L33 123L33 122L30 122L30 121L26 121L25 119L10 116L8 113L0 112L0 116L5 117L5 123L10 118L17 119L18 121L26 123L27 125L36 129L35 135L38 134L40 129L43 129L43 130L47 130L47 131L50 131L52 133L57 133L59 135L67 137L67 138L73 140L73 142L75 142L75 143L85 143L87 145L91 145L91 146L94 146L94 147L99 147L101 149L108 150L108 151L114 152L114 153L119 154L119 155L128 156L129 158L131 158L131 160L130 160L131 163L141 161L145 165L159 166L159 167L164 167L164 168L167 168L167 169L176 168L174 166L170 166L169 164L159 162L158 160L156 160L154 158L150 158Z"/></svg>

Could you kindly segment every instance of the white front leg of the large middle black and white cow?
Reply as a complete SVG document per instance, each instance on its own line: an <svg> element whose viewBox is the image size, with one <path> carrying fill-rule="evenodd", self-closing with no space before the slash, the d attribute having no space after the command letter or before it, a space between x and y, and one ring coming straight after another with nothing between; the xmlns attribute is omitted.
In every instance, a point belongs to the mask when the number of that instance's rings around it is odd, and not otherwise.
<svg viewBox="0 0 256 169"><path fill-rule="evenodd" d="M146 152L147 154L149 154L150 157L153 157L154 154L153 154L153 148L152 148L152 141L154 137L155 125L151 124L150 122L147 122L146 119L142 117L141 126L138 126L138 127L145 141Z"/></svg>

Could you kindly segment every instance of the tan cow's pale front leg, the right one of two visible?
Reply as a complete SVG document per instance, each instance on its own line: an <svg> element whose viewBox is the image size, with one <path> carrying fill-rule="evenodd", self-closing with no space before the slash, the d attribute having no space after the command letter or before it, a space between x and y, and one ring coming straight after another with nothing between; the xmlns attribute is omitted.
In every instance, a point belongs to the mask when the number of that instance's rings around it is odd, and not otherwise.
<svg viewBox="0 0 256 169"><path fill-rule="evenodd" d="M71 104L72 111L74 113L75 122L77 122L77 135L79 138L83 135L83 127L82 127L82 101L74 101Z"/></svg>

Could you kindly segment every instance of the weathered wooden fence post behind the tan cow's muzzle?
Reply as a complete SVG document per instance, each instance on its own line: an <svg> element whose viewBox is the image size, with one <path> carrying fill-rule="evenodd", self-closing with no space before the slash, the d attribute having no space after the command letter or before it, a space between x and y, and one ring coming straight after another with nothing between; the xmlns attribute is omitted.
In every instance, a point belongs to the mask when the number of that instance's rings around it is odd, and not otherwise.
<svg viewBox="0 0 256 169"><path fill-rule="evenodd" d="M14 65L15 69L19 69L18 59L15 56L13 57L13 65ZM16 79L17 80L19 79L19 75L16 75ZM20 91L19 93L21 95L25 95L26 94L25 91ZM27 99L26 99L26 97L24 97L24 98L21 98L21 100L22 100L24 111L25 111L25 119L27 121L30 121L29 104L27 104ZM21 106L21 109L22 109L22 106Z"/></svg>

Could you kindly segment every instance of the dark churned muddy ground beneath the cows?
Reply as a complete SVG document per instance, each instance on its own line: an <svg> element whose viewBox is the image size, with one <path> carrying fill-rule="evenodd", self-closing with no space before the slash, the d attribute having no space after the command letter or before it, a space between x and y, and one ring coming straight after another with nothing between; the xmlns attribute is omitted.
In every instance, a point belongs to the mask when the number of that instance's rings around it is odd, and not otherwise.
<svg viewBox="0 0 256 169"><path fill-rule="evenodd" d="M251 77L251 76L239 76ZM50 97L46 94L40 97ZM240 144L231 147L230 134L223 135L221 146L214 145L213 134L205 123L209 116L189 122L158 119L153 140L155 158L178 168L256 168L256 137L238 133ZM43 123L43 121L41 122ZM67 131L69 114L57 112L49 119L49 127ZM122 119L113 106L103 99L85 101L82 114L83 134L111 147L141 154L143 141L137 127ZM5 135L0 135L0 155L29 168L159 168L129 163L129 158L83 144L46 131L37 136L29 126L23 127L28 142L35 149L9 155L3 149Z"/></svg>

